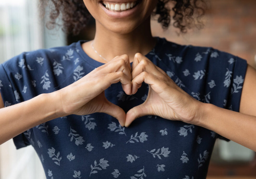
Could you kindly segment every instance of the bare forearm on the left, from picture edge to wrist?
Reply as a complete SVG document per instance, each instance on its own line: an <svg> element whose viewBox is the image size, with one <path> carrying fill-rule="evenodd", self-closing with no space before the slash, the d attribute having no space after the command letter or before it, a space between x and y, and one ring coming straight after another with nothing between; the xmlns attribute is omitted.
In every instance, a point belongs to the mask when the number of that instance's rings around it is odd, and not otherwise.
<svg viewBox="0 0 256 179"><path fill-rule="evenodd" d="M0 109L0 145L18 134L61 117L56 93L40 94L30 100Z"/></svg>

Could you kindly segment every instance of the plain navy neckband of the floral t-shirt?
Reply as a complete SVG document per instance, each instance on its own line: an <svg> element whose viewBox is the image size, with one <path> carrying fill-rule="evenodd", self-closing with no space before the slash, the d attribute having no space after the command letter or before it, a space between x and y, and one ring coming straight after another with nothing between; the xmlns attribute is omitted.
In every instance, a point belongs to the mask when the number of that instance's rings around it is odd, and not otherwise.
<svg viewBox="0 0 256 179"><path fill-rule="evenodd" d="M150 50L145 56L148 58L150 56L150 52L154 51L154 53L157 53L158 52L158 48L159 48L159 44L160 44L160 41L161 39L165 39L165 38L161 38L161 37L158 37L158 36L154 36L154 38L157 39L157 42L155 43L155 46L153 47L152 50ZM76 49L79 50L79 52L76 52L81 56L81 58L86 61L87 63L89 63L91 66L93 67L99 67L101 65L104 65L105 63L102 63L102 62L99 62L99 61L96 61L94 59L92 59L90 56L87 55L87 53L85 53L85 51L83 50L82 48L82 43L84 42L88 42L89 40L79 40L76 42ZM133 62L130 62L130 65L132 65Z"/></svg>

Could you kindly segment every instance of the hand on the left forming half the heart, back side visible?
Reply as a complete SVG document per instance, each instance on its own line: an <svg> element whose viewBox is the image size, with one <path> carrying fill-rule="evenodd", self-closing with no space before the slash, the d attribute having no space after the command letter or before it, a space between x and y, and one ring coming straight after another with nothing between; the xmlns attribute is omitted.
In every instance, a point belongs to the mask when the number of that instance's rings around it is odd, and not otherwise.
<svg viewBox="0 0 256 179"><path fill-rule="evenodd" d="M116 56L76 82L53 93L58 93L61 97L61 101L58 102L64 116L103 112L115 117L124 126L126 113L121 107L107 100L104 90L120 81L124 92L130 95L131 71L129 56Z"/></svg>

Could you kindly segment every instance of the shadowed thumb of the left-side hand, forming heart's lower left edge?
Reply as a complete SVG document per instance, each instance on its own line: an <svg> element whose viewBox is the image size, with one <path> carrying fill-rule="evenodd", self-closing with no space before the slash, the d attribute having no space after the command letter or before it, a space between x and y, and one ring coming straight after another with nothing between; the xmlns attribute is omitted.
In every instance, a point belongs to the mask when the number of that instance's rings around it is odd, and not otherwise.
<svg viewBox="0 0 256 179"><path fill-rule="evenodd" d="M103 104L100 112L103 112L103 113L109 114L110 116L113 116L114 118L116 118L118 120L118 122L121 126L124 126L126 114L121 107L106 100L105 103Z"/></svg>

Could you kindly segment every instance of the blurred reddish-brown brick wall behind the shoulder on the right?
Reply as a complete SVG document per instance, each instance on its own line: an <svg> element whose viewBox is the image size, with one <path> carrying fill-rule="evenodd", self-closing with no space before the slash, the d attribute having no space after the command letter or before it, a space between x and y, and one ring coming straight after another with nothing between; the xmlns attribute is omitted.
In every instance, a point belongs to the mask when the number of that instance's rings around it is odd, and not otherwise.
<svg viewBox="0 0 256 179"><path fill-rule="evenodd" d="M256 1L208 0L208 5L203 29L193 28L178 36L172 25L163 32L160 24L152 21L152 34L180 44L211 46L246 59L256 68Z"/></svg>

